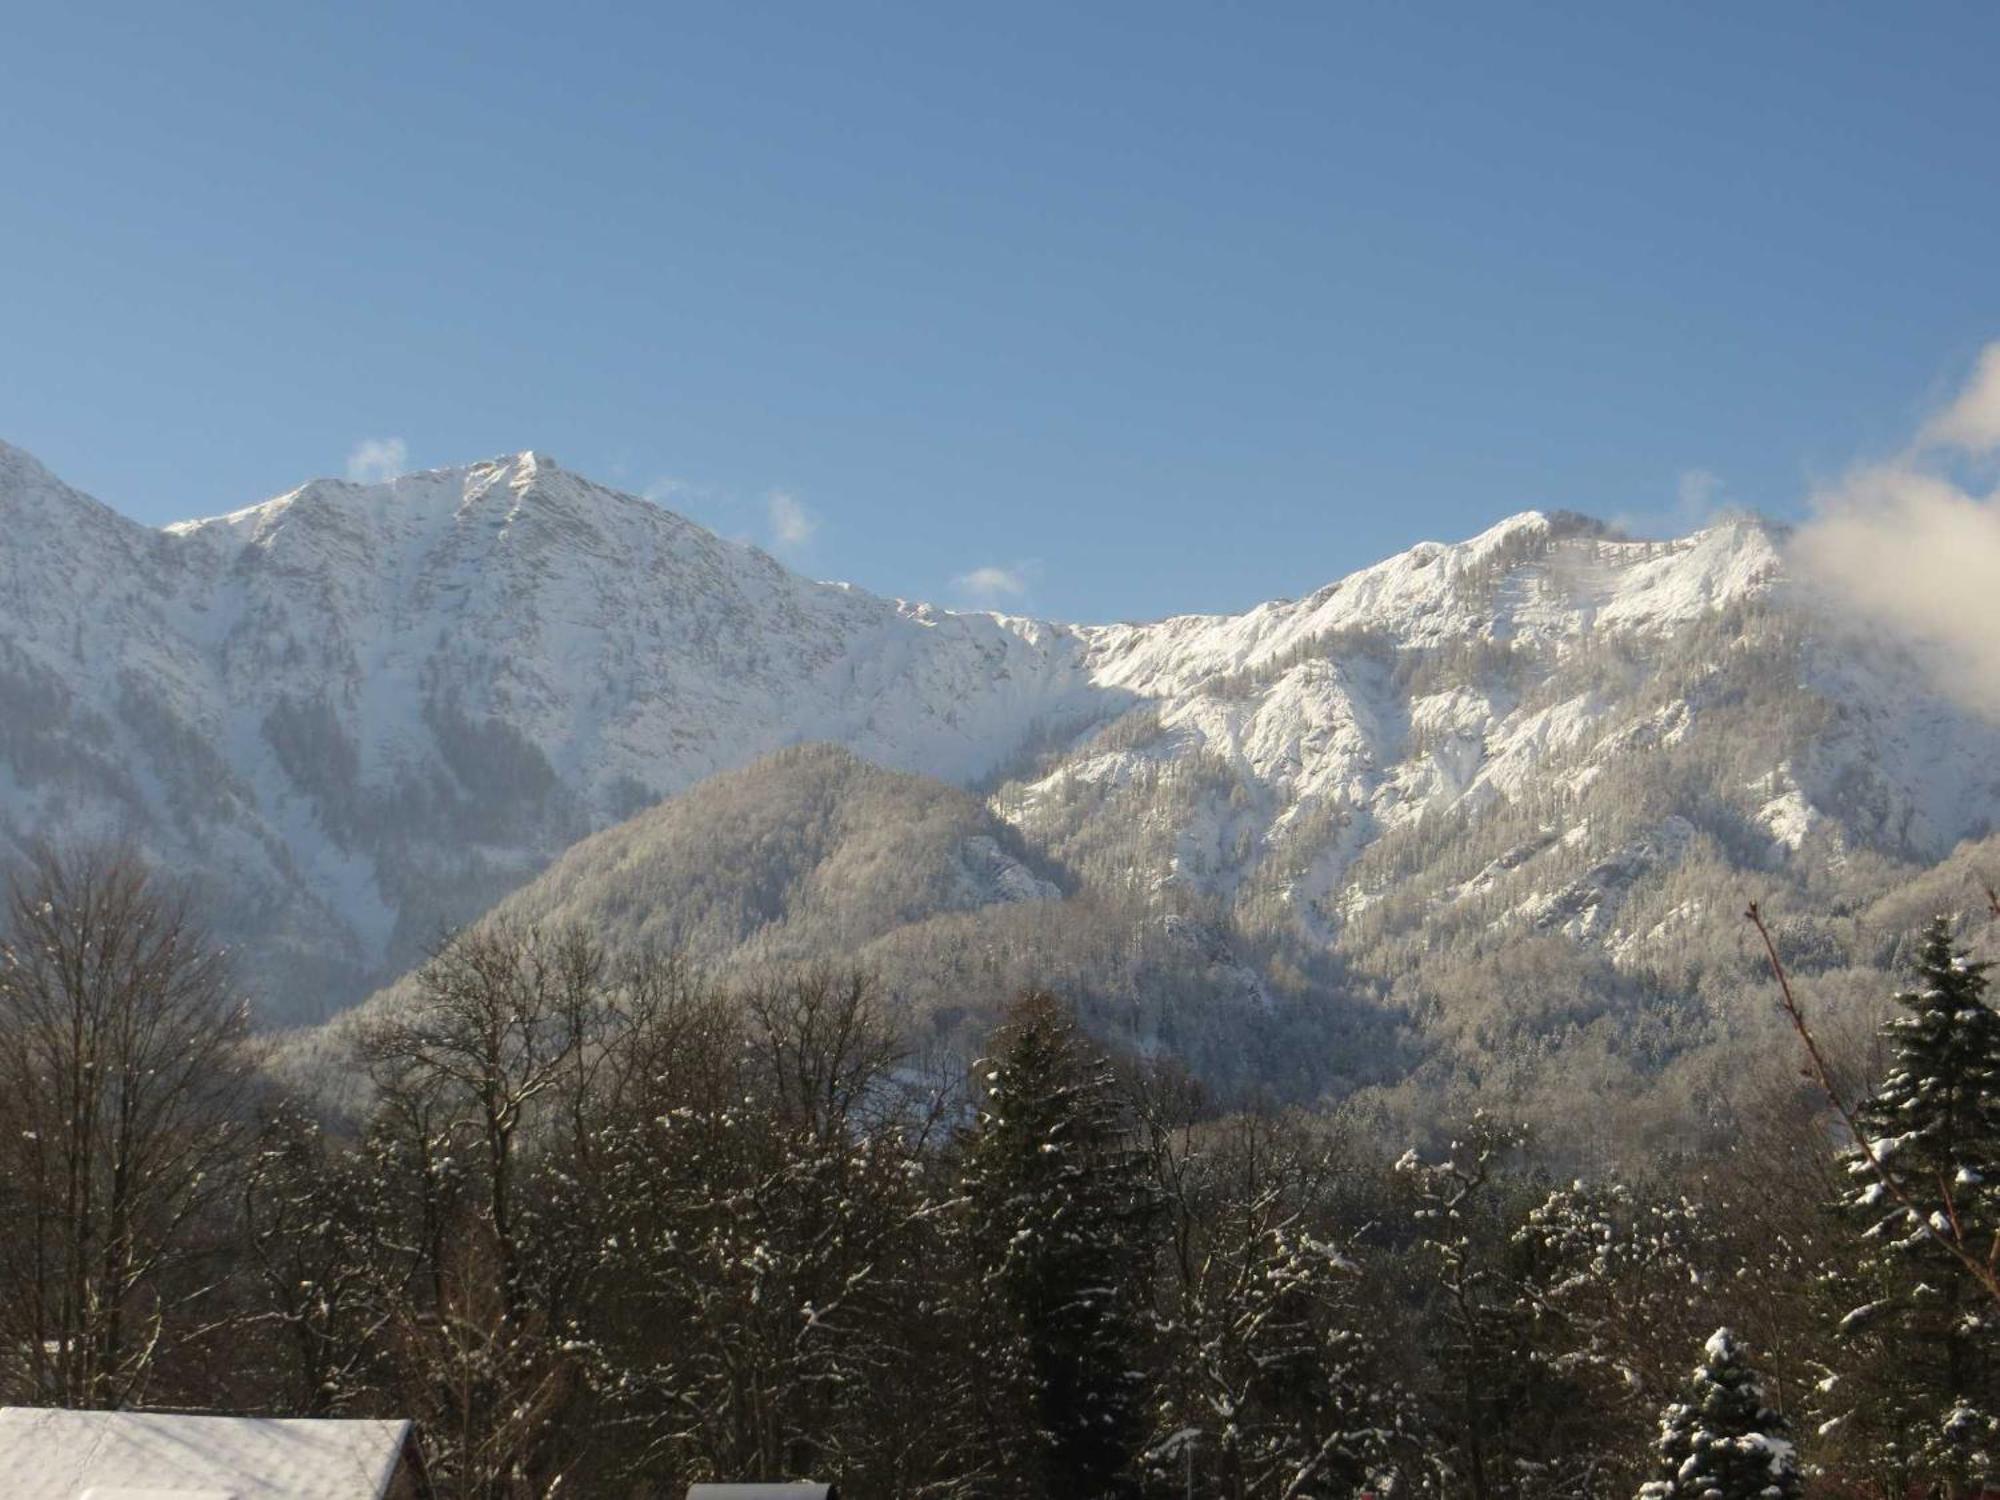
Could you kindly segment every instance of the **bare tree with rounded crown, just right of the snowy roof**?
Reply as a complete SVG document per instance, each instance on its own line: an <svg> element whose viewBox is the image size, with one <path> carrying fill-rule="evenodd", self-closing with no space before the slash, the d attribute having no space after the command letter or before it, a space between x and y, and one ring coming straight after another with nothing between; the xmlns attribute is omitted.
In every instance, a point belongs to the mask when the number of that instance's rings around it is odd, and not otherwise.
<svg viewBox="0 0 2000 1500"><path fill-rule="evenodd" d="M612 966L586 932L494 924L446 942L416 998L362 1034L378 1094L376 1148L412 1168L420 1280L394 1344L466 1494L560 1474L562 1416L582 1372L534 1222L542 1146L592 1090L616 1020ZM428 1272L428 1276L424 1276Z"/></svg>

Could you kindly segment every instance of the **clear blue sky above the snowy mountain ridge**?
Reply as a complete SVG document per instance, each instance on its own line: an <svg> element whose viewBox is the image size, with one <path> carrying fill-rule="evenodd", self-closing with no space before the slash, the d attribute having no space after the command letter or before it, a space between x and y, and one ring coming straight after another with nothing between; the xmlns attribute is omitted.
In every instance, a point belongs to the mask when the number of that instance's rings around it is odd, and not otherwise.
<svg viewBox="0 0 2000 1500"><path fill-rule="evenodd" d="M1794 514L2000 334L1990 6L10 6L0 50L0 436L148 522L534 446L882 592L1240 608L1526 506Z"/></svg>

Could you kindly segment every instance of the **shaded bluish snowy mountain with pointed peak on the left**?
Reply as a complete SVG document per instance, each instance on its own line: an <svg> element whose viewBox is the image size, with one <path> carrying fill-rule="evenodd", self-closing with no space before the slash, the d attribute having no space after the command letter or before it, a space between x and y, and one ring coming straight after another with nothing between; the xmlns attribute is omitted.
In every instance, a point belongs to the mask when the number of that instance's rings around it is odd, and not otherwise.
<svg viewBox="0 0 2000 1500"><path fill-rule="evenodd" d="M798 740L970 780L1074 636L814 584L520 454L154 532L0 450L0 840L128 836L352 998L574 840Z"/></svg>

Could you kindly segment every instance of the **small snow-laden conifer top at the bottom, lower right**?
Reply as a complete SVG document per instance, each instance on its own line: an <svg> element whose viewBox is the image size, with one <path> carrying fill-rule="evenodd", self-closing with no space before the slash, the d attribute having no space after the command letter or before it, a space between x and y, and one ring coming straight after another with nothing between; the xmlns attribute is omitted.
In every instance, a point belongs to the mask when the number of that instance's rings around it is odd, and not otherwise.
<svg viewBox="0 0 2000 1500"><path fill-rule="evenodd" d="M1756 1370L1728 1328L1702 1348L1684 1402L1660 1416L1660 1472L1640 1500L1790 1500L1798 1456L1780 1412L1764 1404Z"/></svg>

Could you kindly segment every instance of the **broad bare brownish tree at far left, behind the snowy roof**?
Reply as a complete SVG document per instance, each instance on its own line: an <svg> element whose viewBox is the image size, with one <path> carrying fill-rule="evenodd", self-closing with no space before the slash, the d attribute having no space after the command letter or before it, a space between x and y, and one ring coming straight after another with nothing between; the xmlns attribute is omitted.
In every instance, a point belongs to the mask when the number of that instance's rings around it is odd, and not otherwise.
<svg viewBox="0 0 2000 1500"><path fill-rule="evenodd" d="M130 852L40 850L0 940L0 1320L22 1396L142 1398L214 1332L204 1218L240 1160L246 1016L228 964Z"/></svg>

